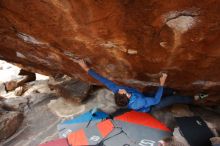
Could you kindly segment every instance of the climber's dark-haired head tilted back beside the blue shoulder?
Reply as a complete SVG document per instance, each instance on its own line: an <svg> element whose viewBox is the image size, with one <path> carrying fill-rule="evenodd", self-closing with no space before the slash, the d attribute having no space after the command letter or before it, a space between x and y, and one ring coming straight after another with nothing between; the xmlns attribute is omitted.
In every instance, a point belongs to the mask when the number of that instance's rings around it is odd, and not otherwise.
<svg viewBox="0 0 220 146"><path fill-rule="evenodd" d="M115 93L115 103L119 107L127 106L130 97L131 94L129 94L125 89L119 89L119 91Z"/></svg>

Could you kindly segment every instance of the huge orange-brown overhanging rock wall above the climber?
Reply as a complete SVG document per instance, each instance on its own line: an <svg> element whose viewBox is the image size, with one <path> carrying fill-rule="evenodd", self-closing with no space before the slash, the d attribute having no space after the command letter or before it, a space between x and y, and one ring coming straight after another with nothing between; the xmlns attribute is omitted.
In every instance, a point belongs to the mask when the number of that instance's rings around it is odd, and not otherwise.
<svg viewBox="0 0 220 146"><path fill-rule="evenodd" d="M117 83L168 71L173 88L218 91L219 14L219 0L0 0L0 59L94 82L71 52Z"/></svg>

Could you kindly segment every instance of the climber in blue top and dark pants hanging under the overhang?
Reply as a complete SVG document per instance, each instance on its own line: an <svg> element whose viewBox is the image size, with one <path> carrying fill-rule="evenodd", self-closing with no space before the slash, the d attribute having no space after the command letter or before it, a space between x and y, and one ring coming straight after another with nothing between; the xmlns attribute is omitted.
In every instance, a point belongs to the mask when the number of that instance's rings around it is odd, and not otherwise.
<svg viewBox="0 0 220 146"><path fill-rule="evenodd" d="M129 109L133 109L140 112L149 112L151 110L151 106L156 109L160 109L175 103L193 103L194 99L191 97L185 96L168 96L161 101L161 97L163 95L163 86L165 84L167 74L162 73L160 77L160 86L154 97L146 97L141 92L134 88L119 86L114 82L102 77L94 70L90 69L84 60L82 59L74 59L74 62L78 63L79 66L82 67L90 76L95 78L96 80L103 83L114 93L115 103L119 107L127 106Z"/></svg>

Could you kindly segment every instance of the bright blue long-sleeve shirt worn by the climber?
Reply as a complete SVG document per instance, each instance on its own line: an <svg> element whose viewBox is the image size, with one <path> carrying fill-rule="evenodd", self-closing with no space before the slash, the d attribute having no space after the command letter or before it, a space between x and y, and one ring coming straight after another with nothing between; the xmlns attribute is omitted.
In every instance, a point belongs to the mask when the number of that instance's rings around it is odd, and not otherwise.
<svg viewBox="0 0 220 146"><path fill-rule="evenodd" d="M119 89L125 89L128 93L131 94L131 97L129 99L128 108L140 111L140 112L149 112L150 107L152 105L156 105L160 102L160 99L163 94L163 87L159 86L155 97L146 97L141 92L134 88L126 87L126 86L118 86L114 82L108 80L107 78L99 75L92 69L88 71L88 74L95 78L96 80L103 83L105 86L107 86L112 92L117 93Z"/></svg>

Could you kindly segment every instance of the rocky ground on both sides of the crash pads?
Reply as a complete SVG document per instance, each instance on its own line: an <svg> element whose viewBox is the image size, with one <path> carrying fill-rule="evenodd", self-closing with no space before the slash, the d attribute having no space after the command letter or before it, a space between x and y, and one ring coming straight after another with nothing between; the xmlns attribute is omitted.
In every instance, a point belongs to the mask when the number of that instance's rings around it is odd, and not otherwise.
<svg viewBox="0 0 220 146"><path fill-rule="evenodd" d="M12 77L8 81L21 78ZM20 96L17 88L25 88ZM15 90L6 92L4 89L1 88L0 98L0 145L4 146L35 146L55 139L59 122L94 107L107 113L117 110L109 90L67 76L46 80L37 78ZM220 133L218 109L174 105L152 114L171 129L176 127L174 117L198 115Z"/></svg>

